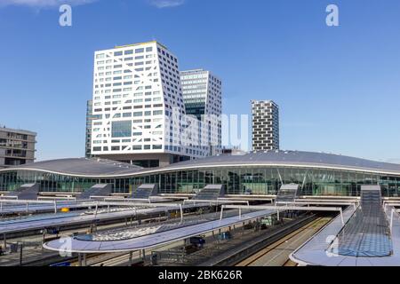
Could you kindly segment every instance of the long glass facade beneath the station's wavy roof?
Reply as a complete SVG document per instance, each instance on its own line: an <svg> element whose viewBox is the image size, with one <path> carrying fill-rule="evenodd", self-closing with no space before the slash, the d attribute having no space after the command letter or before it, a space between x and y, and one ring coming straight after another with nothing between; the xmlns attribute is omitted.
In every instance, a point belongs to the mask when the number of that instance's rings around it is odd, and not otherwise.
<svg viewBox="0 0 400 284"><path fill-rule="evenodd" d="M82 192L92 185L113 184L114 192L130 193L141 184L158 184L160 193L196 193L204 185L226 185L227 194L276 194L282 184L300 185L302 195L358 196L361 185L381 185L383 196L400 196L400 175L388 176L351 170L293 167L223 167L173 170L118 178L71 177L41 171L0 172L0 191L39 183L42 192Z"/></svg>

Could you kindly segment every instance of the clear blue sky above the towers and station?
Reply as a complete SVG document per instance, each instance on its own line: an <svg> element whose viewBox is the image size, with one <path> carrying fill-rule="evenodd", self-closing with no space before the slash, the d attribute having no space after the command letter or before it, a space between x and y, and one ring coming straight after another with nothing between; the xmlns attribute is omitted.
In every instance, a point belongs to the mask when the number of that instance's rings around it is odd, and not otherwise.
<svg viewBox="0 0 400 284"><path fill-rule="evenodd" d="M281 148L400 162L399 35L398 0L1 0L0 123L37 131L38 160L83 156L93 52L156 39L223 79L224 113L274 99Z"/></svg>

